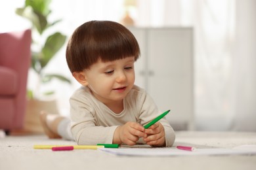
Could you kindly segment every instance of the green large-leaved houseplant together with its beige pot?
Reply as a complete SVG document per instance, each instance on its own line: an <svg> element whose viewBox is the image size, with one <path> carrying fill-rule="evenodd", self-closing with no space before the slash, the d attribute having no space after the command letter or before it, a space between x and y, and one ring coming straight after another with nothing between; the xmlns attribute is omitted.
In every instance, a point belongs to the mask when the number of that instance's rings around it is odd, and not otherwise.
<svg viewBox="0 0 256 170"><path fill-rule="evenodd" d="M28 90L28 105L22 130L26 133L43 133L38 114L41 110L59 114L56 99L43 99L45 95L53 94L53 90L41 92L41 85L51 82L53 78L71 83L65 76L45 73L45 67L66 41L66 35L52 29L61 20L49 22L50 4L51 0L25 0L24 7L16 9L16 14L28 19L32 25L31 67L38 80L35 90Z"/></svg>

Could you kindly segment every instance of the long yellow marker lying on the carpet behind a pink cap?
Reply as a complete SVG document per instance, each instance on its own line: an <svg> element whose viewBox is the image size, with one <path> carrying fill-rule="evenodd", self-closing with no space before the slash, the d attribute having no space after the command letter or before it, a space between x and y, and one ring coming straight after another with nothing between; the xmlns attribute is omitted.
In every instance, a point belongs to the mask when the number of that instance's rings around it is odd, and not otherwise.
<svg viewBox="0 0 256 170"><path fill-rule="evenodd" d="M73 146L74 149L98 149L98 148L104 148L104 146L97 146L97 145L40 145L35 144L33 145L34 149L52 149L53 147L58 146Z"/></svg>

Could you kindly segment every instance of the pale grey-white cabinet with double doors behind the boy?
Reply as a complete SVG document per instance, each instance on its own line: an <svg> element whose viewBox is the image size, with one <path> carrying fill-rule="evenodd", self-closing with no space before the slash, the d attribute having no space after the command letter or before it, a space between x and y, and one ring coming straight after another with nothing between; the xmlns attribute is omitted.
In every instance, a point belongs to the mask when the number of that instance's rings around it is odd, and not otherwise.
<svg viewBox="0 0 256 170"><path fill-rule="evenodd" d="M145 88L175 130L193 129L193 29L129 27L140 45L135 84Z"/></svg>

